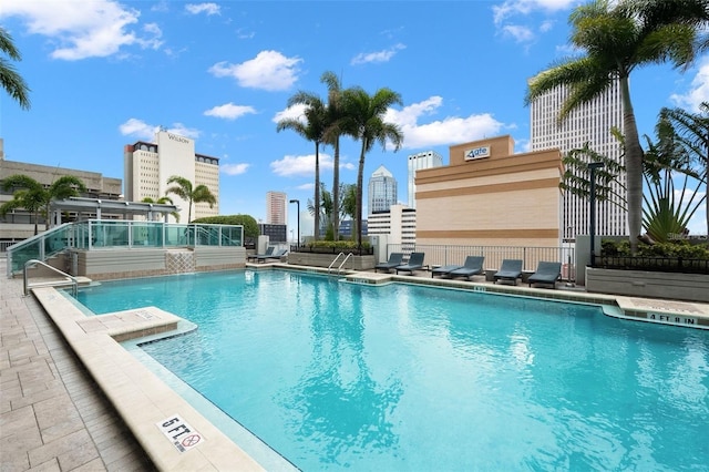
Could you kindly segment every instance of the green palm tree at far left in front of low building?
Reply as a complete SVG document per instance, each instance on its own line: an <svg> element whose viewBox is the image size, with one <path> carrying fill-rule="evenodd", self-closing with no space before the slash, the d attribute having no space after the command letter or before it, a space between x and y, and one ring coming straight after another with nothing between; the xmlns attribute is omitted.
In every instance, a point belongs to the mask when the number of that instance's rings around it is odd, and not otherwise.
<svg viewBox="0 0 709 472"><path fill-rule="evenodd" d="M79 196L86 192L86 186L79 177L64 175L52 182L49 187L44 187L34 178L24 174L14 174L2 181L2 188L8 192L16 188L13 198L0 206L0 215L8 212L23 208L34 216L34 234L39 233L38 220L40 214L45 217L44 229L49 229L49 205L53 199L63 199Z"/></svg>

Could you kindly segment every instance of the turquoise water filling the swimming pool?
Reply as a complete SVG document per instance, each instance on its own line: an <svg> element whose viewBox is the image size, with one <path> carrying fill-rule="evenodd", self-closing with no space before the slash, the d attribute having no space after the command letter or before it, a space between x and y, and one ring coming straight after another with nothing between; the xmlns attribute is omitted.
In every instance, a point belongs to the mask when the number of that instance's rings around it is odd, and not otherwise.
<svg viewBox="0 0 709 472"><path fill-rule="evenodd" d="M707 470L709 332L598 307L250 270L105 283L143 345L305 471Z"/></svg>

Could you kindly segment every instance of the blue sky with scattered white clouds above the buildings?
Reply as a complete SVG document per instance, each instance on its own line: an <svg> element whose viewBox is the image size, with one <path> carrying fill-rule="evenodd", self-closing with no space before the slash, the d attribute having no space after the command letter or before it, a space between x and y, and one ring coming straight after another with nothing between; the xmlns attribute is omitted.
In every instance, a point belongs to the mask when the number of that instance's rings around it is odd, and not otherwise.
<svg viewBox="0 0 709 472"><path fill-rule="evenodd" d="M6 158L123 178L123 147L164 126L220 160L220 213L266 217L266 192L301 208L312 197L314 147L276 122L296 116L298 90L325 98L325 71L343 86L387 86L403 106L388 119L404 133L379 166L407 199L407 156L511 134L528 150L526 81L569 54L575 0L506 1L110 1L2 0L0 25L22 53L31 89L24 111L0 94ZM662 106L709 100L709 57L680 73L638 70L631 96L640 134ZM331 148L321 178L332 184ZM354 183L359 145L342 142L340 179ZM295 206L295 205L291 205ZM290 223L295 219L290 209ZM705 233L703 209L690 229Z"/></svg>

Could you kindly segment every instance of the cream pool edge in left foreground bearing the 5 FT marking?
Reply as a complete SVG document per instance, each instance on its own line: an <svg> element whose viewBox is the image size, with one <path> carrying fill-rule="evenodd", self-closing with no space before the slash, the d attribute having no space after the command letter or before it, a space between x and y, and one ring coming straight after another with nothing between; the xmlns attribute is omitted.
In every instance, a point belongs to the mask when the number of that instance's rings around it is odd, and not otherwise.
<svg viewBox="0 0 709 472"><path fill-rule="evenodd" d="M32 293L160 470L264 470L113 338L133 337L131 331L137 336L164 331L175 327L179 318L151 308L151 319L133 319L130 324L120 317L91 320L54 288ZM198 431L204 442L179 452L157 427L175 414Z"/></svg>

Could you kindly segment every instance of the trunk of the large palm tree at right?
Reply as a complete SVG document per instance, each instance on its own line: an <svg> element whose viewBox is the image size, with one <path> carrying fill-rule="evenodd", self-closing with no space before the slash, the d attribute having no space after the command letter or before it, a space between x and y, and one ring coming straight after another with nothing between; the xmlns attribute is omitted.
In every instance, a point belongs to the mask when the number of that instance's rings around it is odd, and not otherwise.
<svg viewBox="0 0 709 472"><path fill-rule="evenodd" d="M620 78L623 98L623 124L625 127L625 167L628 191L628 232L630 252L638 250L638 237L643 230L643 147L638 137L638 126L630 103L628 78Z"/></svg>

